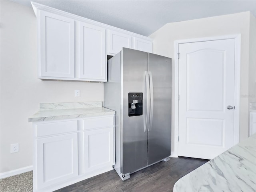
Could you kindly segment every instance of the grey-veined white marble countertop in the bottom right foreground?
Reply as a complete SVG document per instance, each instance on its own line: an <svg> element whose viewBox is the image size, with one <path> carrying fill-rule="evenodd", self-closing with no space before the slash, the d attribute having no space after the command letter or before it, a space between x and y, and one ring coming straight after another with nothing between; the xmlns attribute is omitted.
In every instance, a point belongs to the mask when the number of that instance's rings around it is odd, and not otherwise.
<svg viewBox="0 0 256 192"><path fill-rule="evenodd" d="M178 180L174 192L256 191L256 134Z"/></svg>

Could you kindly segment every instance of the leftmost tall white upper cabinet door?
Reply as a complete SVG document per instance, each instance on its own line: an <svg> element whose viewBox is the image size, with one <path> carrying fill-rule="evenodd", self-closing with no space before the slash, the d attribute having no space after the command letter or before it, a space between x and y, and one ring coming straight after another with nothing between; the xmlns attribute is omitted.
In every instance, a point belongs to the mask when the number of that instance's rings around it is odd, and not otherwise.
<svg viewBox="0 0 256 192"><path fill-rule="evenodd" d="M74 78L74 20L40 11L39 78Z"/></svg>

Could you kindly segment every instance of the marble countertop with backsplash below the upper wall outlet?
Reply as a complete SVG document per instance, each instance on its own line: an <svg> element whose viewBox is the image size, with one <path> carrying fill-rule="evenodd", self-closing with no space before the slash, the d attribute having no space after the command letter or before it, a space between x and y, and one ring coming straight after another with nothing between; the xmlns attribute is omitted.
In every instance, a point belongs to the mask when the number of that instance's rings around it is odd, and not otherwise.
<svg viewBox="0 0 256 192"><path fill-rule="evenodd" d="M116 112L102 107L102 102L42 103L28 122L85 118L112 115Z"/></svg>

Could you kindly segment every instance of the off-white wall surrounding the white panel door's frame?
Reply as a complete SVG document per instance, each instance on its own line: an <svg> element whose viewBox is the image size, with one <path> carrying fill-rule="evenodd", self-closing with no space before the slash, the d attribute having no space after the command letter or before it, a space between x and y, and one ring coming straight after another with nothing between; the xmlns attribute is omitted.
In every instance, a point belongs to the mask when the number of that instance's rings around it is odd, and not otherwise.
<svg viewBox="0 0 256 192"><path fill-rule="evenodd" d="M240 72L240 140L247 138L248 136L248 95L249 95L249 68L255 69L255 47L253 52L253 44L250 47L251 54L254 55L249 63L249 42L250 39L255 38L255 33L249 36L250 32L250 18L251 22L255 18L250 12L242 12L238 14L229 14L224 16L216 16L210 18L189 20L184 22L168 23L153 34L150 35L153 38L153 52L155 54L164 55L167 57L175 58L174 53L174 41L202 38L212 36L222 36L229 34L241 34L241 72ZM251 26L255 25L253 22ZM255 29L254 29L255 30ZM255 44L254 44L255 46ZM173 75L175 71L175 62L173 64ZM255 73L255 70L253 71ZM255 74L254 74L255 76ZM253 77L252 77L253 78ZM250 78L250 84L252 82ZM174 98L173 93L173 98ZM172 102L174 106L174 100ZM174 151L174 108L172 110L172 152Z"/></svg>

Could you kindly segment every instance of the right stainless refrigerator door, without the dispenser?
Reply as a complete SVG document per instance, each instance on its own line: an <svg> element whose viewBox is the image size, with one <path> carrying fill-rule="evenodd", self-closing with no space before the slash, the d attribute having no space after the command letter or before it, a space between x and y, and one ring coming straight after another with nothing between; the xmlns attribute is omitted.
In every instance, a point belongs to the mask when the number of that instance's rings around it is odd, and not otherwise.
<svg viewBox="0 0 256 192"><path fill-rule="evenodd" d="M171 151L171 58L148 54L151 110L148 131L148 165L170 156Z"/></svg>

